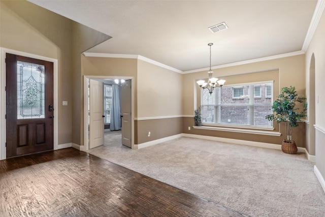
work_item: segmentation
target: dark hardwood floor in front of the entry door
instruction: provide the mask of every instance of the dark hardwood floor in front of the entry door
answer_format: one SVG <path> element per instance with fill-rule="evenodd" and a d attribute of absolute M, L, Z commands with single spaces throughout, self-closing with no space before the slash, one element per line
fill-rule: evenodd
<path fill-rule="evenodd" d="M 0 161 L 0 216 L 243 216 L 73 148 Z"/>

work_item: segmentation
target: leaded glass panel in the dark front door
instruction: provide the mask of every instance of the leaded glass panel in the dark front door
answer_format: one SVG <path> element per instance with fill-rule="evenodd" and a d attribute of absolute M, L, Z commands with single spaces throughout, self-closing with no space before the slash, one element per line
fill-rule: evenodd
<path fill-rule="evenodd" d="M 17 61 L 17 118 L 45 118 L 45 66 Z"/>

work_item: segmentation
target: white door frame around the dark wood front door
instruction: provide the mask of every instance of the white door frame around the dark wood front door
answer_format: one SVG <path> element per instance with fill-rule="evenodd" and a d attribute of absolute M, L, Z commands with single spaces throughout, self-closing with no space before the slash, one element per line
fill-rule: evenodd
<path fill-rule="evenodd" d="M 46 56 L 0 47 L 0 160 L 6 159 L 6 53 L 41 59 L 53 63 L 53 149 L 58 149 L 58 60 Z"/>

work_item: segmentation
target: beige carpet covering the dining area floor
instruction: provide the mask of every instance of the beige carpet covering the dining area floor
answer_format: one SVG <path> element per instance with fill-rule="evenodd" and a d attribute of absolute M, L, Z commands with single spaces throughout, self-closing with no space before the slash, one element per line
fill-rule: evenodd
<path fill-rule="evenodd" d="M 139 150 L 107 139 L 89 153 L 249 216 L 325 216 L 304 153 L 192 138 Z"/>

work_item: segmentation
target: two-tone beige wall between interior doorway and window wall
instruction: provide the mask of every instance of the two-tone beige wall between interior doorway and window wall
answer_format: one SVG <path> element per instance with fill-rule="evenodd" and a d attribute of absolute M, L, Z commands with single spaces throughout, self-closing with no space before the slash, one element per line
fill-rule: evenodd
<path fill-rule="evenodd" d="M 182 74 L 138 60 L 137 80 L 135 144 L 182 133 Z"/>

